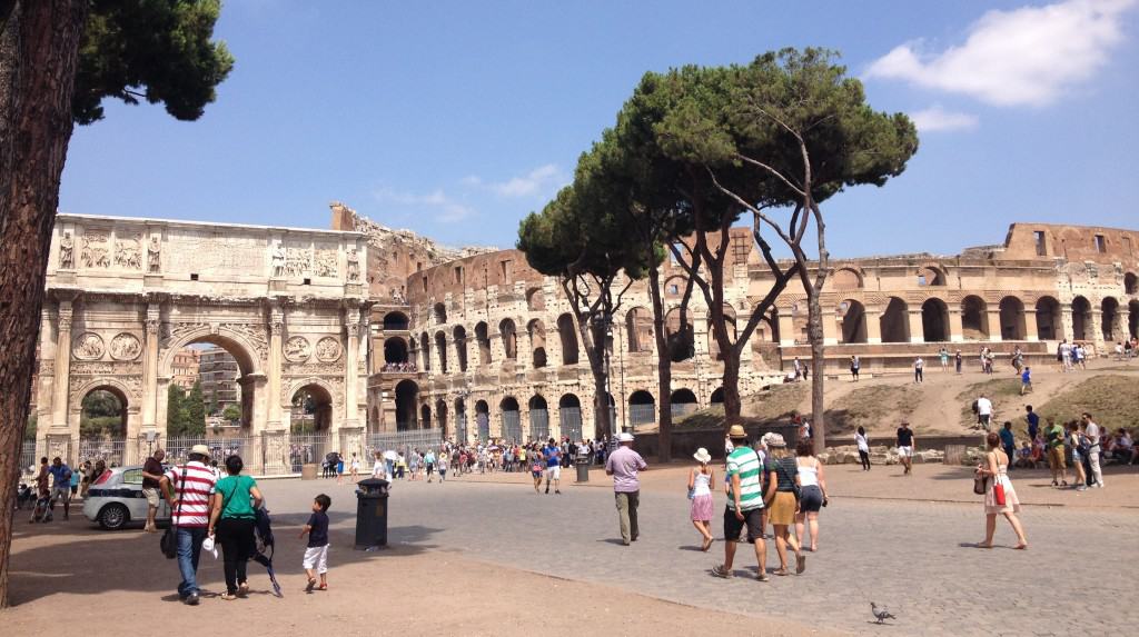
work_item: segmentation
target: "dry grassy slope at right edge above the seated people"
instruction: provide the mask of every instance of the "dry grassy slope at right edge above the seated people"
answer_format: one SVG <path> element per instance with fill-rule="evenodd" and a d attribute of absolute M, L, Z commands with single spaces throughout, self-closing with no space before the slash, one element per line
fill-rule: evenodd
<path fill-rule="evenodd" d="M 1139 380 L 1118 375 L 1092 377 L 1036 407 L 1041 419 L 1079 420 L 1088 412 L 1100 427 L 1116 430 L 1139 425 Z"/>

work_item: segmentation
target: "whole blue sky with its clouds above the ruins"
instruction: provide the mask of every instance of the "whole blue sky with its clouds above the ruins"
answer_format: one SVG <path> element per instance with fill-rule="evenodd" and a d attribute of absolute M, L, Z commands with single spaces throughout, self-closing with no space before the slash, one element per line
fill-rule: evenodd
<path fill-rule="evenodd" d="M 108 100 L 60 209 L 328 228 L 328 202 L 514 245 L 646 71 L 837 49 L 921 148 L 828 202 L 837 256 L 999 243 L 1015 221 L 1139 229 L 1139 0 L 230 0 L 237 61 L 194 123 Z"/>

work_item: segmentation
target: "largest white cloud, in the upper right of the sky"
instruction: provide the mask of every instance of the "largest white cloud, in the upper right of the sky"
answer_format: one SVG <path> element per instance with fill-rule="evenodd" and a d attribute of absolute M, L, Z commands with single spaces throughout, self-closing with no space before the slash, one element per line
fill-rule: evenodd
<path fill-rule="evenodd" d="M 867 77 L 902 80 L 995 106 L 1044 106 L 1091 77 L 1123 40 L 1122 15 L 1137 0 L 1067 0 L 993 10 L 964 44 L 940 53 L 902 44 L 875 60 Z"/>

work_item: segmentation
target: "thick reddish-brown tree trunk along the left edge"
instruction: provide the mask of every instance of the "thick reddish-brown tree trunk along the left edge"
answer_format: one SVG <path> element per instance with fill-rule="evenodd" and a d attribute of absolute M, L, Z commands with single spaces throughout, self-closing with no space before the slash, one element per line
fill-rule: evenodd
<path fill-rule="evenodd" d="M 87 0 L 25 0 L 0 34 L 0 333 L 6 339 L 0 350 L 0 606 L 8 605 L 10 503 L 88 6 Z"/>

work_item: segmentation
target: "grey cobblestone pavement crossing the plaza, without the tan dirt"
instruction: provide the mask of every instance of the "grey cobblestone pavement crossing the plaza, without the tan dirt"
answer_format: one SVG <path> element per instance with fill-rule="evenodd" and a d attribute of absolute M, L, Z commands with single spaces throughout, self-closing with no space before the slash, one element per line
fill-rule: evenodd
<path fill-rule="evenodd" d="M 335 527 L 351 529 L 351 487 L 264 483 L 277 506 L 289 511 L 303 511 L 320 489 L 334 497 Z M 1121 634 L 1139 621 L 1128 602 L 1139 557 L 1134 511 L 1030 507 L 1021 516 L 1030 551 L 1010 549 L 1015 536 L 1002 519 L 998 548 L 983 551 L 972 547 L 984 535 L 980 504 L 835 498 L 821 515 L 820 549 L 809 554 L 806 573 L 760 584 L 751 579 L 754 557 L 744 549 L 737 579 L 711 577 L 723 544 L 707 554 L 697 549 L 682 489 L 642 493 L 642 536 L 630 547 L 620 544 L 613 494 L 600 488 L 546 496 L 521 485 L 461 479 L 400 482 L 390 510 L 394 545 L 459 551 L 489 569 L 503 564 L 846 632 L 891 630 L 870 623 L 871 601 L 898 615 L 893 634 L 907 635 Z M 721 531 L 719 519 L 713 527 Z M 770 570 L 778 560 L 768 544 Z M 1089 606 L 1089 595 L 1101 603 Z"/>

